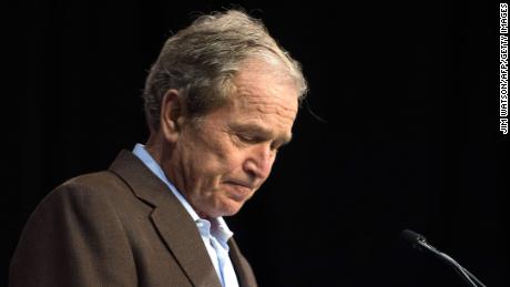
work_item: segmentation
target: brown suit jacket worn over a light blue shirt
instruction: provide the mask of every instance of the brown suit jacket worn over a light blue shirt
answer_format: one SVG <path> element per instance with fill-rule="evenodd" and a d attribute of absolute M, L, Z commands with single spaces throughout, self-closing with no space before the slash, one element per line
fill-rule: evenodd
<path fill-rule="evenodd" d="M 256 286 L 233 239 L 241 286 Z M 206 286 L 220 280 L 192 217 L 136 156 L 75 177 L 27 223 L 10 266 L 18 286 Z"/>

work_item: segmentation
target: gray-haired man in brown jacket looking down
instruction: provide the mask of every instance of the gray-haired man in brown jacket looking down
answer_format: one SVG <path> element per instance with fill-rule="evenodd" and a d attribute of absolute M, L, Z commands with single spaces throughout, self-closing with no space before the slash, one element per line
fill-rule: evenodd
<path fill-rule="evenodd" d="M 222 216 L 269 175 L 305 91 L 299 64 L 261 22 L 198 18 L 151 69 L 146 145 L 44 198 L 10 286 L 256 286 Z"/>

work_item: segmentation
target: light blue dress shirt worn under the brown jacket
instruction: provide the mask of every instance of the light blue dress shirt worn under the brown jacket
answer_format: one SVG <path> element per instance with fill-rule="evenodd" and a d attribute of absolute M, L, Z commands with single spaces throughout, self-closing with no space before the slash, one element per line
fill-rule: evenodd
<path fill-rule="evenodd" d="M 231 257 L 228 257 L 227 240 L 234 235 L 226 225 L 223 217 L 217 217 L 210 221 L 201 218 L 193 207 L 187 203 L 186 198 L 177 191 L 177 188 L 166 178 L 161 166 L 154 161 L 151 154 L 145 150 L 143 144 L 136 144 L 133 148 L 133 154 L 136 155 L 161 181 L 163 181 L 172 193 L 177 197 L 178 202 L 184 206 L 187 213 L 198 228 L 202 240 L 207 249 L 208 256 L 213 262 L 220 281 L 224 287 L 238 287 L 237 276 L 235 275 L 234 266 Z"/>

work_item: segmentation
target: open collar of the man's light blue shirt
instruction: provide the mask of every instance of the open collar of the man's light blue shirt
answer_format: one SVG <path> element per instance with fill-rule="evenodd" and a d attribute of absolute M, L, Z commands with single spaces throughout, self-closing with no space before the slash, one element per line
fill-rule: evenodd
<path fill-rule="evenodd" d="M 206 233 L 207 235 L 213 235 L 224 248 L 228 248 L 227 240 L 234 235 L 234 233 L 231 232 L 223 217 L 213 218 L 212 222 L 201 218 L 198 214 L 196 214 L 195 209 L 193 209 L 193 207 L 186 201 L 186 198 L 184 198 L 177 188 L 169 181 L 161 166 L 145 150 L 143 144 L 137 143 L 133 148 L 133 154 L 136 155 L 149 167 L 149 170 L 151 170 L 152 173 L 154 173 L 162 182 L 169 186 L 175 197 L 177 197 L 178 202 L 191 215 L 201 234 Z"/>

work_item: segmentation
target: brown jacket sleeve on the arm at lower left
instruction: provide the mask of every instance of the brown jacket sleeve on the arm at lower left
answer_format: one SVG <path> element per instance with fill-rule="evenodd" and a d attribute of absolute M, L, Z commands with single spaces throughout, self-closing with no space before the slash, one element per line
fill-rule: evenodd
<path fill-rule="evenodd" d="M 11 260 L 9 286 L 136 286 L 136 267 L 108 191 L 67 183 L 38 206 Z"/>

